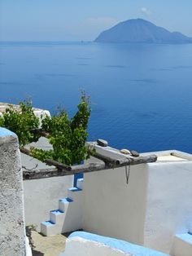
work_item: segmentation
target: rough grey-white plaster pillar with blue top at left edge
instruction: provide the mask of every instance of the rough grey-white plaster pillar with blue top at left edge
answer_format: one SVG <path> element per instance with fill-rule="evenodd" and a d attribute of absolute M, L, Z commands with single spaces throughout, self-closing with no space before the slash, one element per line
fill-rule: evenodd
<path fill-rule="evenodd" d="M 0 254 L 26 255 L 24 198 L 17 136 L 0 128 Z"/>

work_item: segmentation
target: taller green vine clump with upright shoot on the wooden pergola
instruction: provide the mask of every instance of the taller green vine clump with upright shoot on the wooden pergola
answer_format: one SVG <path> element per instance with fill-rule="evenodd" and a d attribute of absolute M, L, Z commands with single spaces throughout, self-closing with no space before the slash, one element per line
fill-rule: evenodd
<path fill-rule="evenodd" d="M 33 148 L 34 157 L 41 161 L 47 158 L 53 159 L 68 166 L 79 164 L 89 157 L 90 150 L 85 147 L 85 141 L 88 136 L 87 126 L 91 108 L 89 97 L 86 97 L 85 93 L 82 93 L 81 103 L 77 105 L 77 108 L 72 119 L 63 110 L 51 118 L 46 116 L 43 119 L 41 128 L 49 134 L 48 139 L 53 150 L 44 151 Z"/>

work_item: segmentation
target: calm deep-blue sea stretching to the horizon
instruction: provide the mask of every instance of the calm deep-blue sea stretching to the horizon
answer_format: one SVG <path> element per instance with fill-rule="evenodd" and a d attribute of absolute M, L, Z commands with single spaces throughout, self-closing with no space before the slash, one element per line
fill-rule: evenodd
<path fill-rule="evenodd" d="M 192 44 L 1 43 L 0 101 L 75 112 L 91 96 L 89 139 L 192 152 Z"/>

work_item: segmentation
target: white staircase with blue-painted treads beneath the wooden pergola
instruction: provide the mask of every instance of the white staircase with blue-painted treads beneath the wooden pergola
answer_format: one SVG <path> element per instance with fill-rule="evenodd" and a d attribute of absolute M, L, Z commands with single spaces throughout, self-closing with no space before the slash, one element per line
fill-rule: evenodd
<path fill-rule="evenodd" d="M 82 228 L 83 179 L 76 187 L 68 188 L 68 197 L 59 199 L 59 209 L 50 211 L 50 220 L 41 223 L 41 233 L 53 236 Z"/>

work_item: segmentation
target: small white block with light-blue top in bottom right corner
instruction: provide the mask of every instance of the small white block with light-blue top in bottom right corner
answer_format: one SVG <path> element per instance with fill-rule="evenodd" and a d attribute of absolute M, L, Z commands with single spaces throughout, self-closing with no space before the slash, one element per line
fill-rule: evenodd
<path fill-rule="evenodd" d="M 179 234 L 174 237 L 172 255 L 192 256 L 192 233 Z"/>

